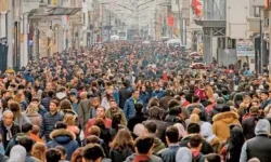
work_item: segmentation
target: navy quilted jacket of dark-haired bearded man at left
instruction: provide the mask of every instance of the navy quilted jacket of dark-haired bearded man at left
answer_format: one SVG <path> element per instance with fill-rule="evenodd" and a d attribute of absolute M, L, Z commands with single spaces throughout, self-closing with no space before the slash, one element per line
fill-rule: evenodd
<path fill-rule="evenodd" d="M 63 118 L 64 116 L 61 112 L 56 112 L 53 116 L 51 114 L 51 112 L 47 112 L 43 116 L 39 137 L 42 138 L 42 136 L 46 135 L 47 141 L 51 140 L 50 134 L 54 130 L 54 124 L 57 121 L 63 121 Z"/>

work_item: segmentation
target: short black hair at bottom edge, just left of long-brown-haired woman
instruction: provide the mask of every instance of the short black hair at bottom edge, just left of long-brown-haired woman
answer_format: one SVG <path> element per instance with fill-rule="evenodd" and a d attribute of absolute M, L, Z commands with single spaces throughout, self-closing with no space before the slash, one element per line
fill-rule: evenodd
<path fill-rule="evenodd" d="M 89 144 L 86 146 L 82 152 L 82 157 L 86 160 L 95 161 L 99 158 L 104 158 L 103 148 L 98 144 Z"/>

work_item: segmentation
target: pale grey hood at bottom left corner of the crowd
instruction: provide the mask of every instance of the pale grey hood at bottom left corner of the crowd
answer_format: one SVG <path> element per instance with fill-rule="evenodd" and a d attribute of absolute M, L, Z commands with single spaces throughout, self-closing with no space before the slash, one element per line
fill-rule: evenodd
<path fill-rule="evenodd" d="M 26 150 L 23 146 L 16 145 L 12 147 L 10 152 L 10 159 L 9 162 L 14 161 L 25 161 L 26 160 Z"/>

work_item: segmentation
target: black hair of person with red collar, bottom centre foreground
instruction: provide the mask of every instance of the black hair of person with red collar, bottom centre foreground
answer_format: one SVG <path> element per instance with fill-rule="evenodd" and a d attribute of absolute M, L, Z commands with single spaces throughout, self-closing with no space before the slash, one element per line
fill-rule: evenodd
<path fill-rule="evenodd" d="M 141 136 L 136 139 L 134 147 L 138 148 L 138 152 L 141 154 L 146 154 L 154 144 L 154 138 L 152 136 Z"/>

